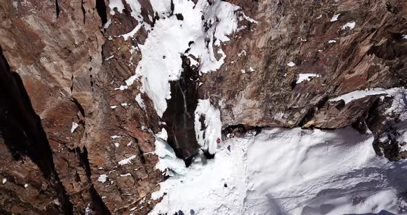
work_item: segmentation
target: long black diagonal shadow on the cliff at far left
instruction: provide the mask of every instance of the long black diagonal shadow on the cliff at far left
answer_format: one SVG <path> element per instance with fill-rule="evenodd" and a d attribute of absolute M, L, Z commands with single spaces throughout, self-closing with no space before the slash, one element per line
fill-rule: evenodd
<path fill-rule="evenodd" d="M 52 150 L 41 119 L 34 112 L 30 98 L 19 74 L 10 71 L 0 47 L 0 137 L 4 139 L 13 158 L 29 156 L 44 178 L 59 194 L 65 214 L 73 214 L 72 204 L 55 171 Z"/>

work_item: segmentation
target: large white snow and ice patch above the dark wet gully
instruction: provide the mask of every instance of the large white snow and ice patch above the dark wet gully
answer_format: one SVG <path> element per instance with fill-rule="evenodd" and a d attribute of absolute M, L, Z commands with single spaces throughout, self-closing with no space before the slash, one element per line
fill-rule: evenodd
<path fill-rule="evenodd" d="M 229 41 L 227 35 L 237 30 L 237 13 L 240 8 L 225 1 L 216 0 L 210 6 L 208 1 L 199 0 L 195 6 L 192 1 L 173 1 L 174 14 L 182 14 L 183 21 L 171 13 L 171 1 L 151 1 L 152 9 L 157 12 L 159 19 L 155 22 L 143 45 L 139 44 L 142 59 L 137 65 L 135 75 L 126 80 L 126 85 L 132 85 L 139 79 L 142 83 L 141 92 L 146 92 L 154 103 L 159 116 L 167 108 L 166 99 L 170 99 L 170 83 L 179 79 L 181 75 L 181 54 L 199 58 L 200 72 L 215 71 L 224 63 L 226 54 L 219 48 L 214 50 L 213 45 Z M 132 6 L 135 14 L 139 16 L 139 4 Z M 202 20 L 201 17 L 204 19 Z M 204 23 L 212 25 L 205 30 Z M 122 35 L 127 39 L 141 28 L 137 25 L 129 34 Z M 191 45 L 188 45 L 193 41 Z M 189 52 L 186 50 L 190 48 Z M 221 55 L 215 58 L 215 52 Z M 164 59 L 162 56 L 166 56 Z"/>

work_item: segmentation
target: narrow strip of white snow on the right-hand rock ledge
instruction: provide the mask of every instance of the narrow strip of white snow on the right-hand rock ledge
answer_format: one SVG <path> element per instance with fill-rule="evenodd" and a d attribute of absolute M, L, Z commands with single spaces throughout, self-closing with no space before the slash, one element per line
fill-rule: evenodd
<path fill-rule="evenodd" d="M 365 89 L 365 90 L 356 90 L 353 92 L 348 92 L 341 96 L 337 96 L 333 99 L 329 99 L 329 101 L 339 101 L 344 100 L 345 104 L 350 103 L 353 100 L 362 99 L 366 96 L 373 96 L 379 94 L 395 94 L 398 88 L 391 88 L 391 89 L 384 89 L 384 88 L 372 88 L 372 89 Z"/>

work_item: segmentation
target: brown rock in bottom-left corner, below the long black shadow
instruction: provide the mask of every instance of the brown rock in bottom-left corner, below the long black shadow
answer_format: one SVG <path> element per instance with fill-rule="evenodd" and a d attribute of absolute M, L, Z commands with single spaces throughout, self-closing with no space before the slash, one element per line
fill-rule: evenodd
<path fill-rule="evenodd" d="M 30 158 L 16 161 L 0 141 L 0 213 L 58 214 L 57 192 Z"/>

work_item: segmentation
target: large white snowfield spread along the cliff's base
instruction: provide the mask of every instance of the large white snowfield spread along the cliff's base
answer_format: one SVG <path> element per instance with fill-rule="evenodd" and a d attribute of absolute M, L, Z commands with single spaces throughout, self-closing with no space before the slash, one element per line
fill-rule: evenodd
<path fill-rule="evenodd" d="M 214 159 L 200 155 L 188 168 L 177 166 L 176 174 L 152 194 L 163 200 L 150 214 L 188 214 L 190 209 L 230 215 L 364 214 L 382 209 L 398 214 L 398 191 L 407 189 L 407 161 L 392 163 L 376 156 L 373 139 L 350 127 L 276 128 L 228 139 Z"/>

